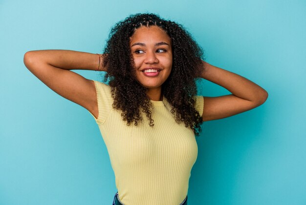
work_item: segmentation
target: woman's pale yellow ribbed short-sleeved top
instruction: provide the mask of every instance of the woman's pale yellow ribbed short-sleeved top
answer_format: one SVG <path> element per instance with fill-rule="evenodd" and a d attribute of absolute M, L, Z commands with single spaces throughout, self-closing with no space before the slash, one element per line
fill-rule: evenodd
<path fill-rule="evenodd" d="M 192 129 L 176 123 L 171 105 L 153 103 L 154 126 L 143 122 L 127 125 L 121 111 L 112 108 L 110 86 L 94 81 L 99 115 L 96 119 L 109 152 L 118 197 L 124 205 L 179 205 L 187 196 L 197 142 Z M 195 96 L 202 115 L 203 97 Z"/>

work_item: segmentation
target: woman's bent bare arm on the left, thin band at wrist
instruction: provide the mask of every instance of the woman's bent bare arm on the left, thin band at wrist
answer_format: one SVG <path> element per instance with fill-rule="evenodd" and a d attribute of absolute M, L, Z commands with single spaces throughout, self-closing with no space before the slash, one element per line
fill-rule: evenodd
<path fill-rule="evenodd" d="M 100 61 L 100 65 L 99 65 Z M 75 102 L 98 118 L 94 82 L 70 70 L 105 71 L 103 55 L 72 50 L 37 50 L 24 54 L 25 66 L 57 94 Z"/>

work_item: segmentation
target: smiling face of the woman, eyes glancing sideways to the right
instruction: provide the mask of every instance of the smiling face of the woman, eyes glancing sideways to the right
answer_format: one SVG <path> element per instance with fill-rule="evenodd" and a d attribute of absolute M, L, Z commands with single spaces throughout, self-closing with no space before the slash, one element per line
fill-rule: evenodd
<path fill-rule="evenodd" d="M 130 38 L 137 80 L 146 88 L 160 89 L 172 69 L 171 40 L 158 26 L 142 26 Z"/>

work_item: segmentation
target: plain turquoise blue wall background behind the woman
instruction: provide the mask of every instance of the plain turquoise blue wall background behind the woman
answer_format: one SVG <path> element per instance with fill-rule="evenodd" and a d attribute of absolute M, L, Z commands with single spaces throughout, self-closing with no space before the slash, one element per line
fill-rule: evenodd
<path fill-rule="evenodd" d="M 0 0 L 0 205 L 112 203 L 114 174 L 93 117 L 31 74 L 23 55 L 101 53 L 111 26 L 138 12 L 183 24 L 207 62 L 269 93 L 260 107 L 203 123 L 188 204 L 305 205 L 305 0 Z"/>

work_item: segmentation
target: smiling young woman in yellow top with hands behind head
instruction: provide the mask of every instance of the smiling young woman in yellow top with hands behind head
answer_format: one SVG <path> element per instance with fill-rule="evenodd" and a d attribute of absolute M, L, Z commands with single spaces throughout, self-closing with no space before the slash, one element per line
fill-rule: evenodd
<path fill-rule="evenodd" d="M 116 205 L 187 205 L 200 123 L 261 105 L 267 92 L 202 60 L 183 26 L 154 14 L 131 15 L 111 30 L 104 54 L 38 50 L 26 67 L 98 124 L 115 173 Z M 109 85 L 70 70 L 106 71 Z M 196 96 L 196 78 L 232 94 Z"/>

